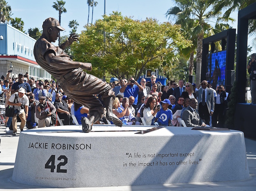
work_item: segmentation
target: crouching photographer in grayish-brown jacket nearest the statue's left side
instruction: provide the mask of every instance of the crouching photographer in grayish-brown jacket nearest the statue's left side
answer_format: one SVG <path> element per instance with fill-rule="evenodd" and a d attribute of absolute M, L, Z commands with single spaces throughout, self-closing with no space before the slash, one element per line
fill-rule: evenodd
<path fill-rule="evenodd" d="M 38 128 L 49 127 L 52 123 L 51 116 L 56 112 L 55 106 L 50 101 L 46 101 L 45 96 L 39 98 L 40 104 L 35 108 L 38 120 Z"/>

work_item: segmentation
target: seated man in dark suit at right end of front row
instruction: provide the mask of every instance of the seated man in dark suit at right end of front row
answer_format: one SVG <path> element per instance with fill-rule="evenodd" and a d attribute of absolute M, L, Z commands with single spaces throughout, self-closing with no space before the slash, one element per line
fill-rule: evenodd
<path fill-rule="evenodd" d="M 196 98 L 190 99 L 189 106 L 184 110 L 182 119 L 187 127 L 206 126 L 204 121 L 199 117 L 198 110 L 196 109 L 198 101 Z"/>

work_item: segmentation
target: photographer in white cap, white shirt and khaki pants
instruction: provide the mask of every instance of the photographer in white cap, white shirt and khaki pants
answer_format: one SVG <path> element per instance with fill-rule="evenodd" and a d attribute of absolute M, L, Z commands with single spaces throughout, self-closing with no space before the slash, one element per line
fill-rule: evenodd
<path fill-rule="evenodd" d="M 14 116 L 12 117 L 12 135 L 16 135 L 17 133 L 17 116 L 20 117 L 20 131 L 23 131 L 23 128 L 26 123 L 26 119 L 28 118 L 28 97 L 25 95 L 25 89 L 20 88 L 17 93 L 14 93 L 10 99 L 8 100 L 8 105 L 14 106 Z"/>

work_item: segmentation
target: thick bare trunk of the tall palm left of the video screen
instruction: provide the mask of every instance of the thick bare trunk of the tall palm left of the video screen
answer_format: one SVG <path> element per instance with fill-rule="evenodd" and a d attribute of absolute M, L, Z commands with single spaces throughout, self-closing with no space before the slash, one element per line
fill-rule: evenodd
<path fill-rule="evenodd" d="M 201 68 L 202 68 L 202 46 L 204 35 L 199 35 L 197 38 L 196 48 L 196 86 L 201 83 Z"/>

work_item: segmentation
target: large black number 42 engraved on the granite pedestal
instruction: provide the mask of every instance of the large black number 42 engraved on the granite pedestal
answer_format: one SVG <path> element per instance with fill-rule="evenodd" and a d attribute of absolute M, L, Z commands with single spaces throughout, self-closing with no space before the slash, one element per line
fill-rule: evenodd
<path fill-rule="evenodd" d="M 60 169 L 60 167 L 66 165 L 66 163 L 68 163 L 68 158 L 64 155 L 61 155 L 58 157 L 58 160 L 62 160 L 62 159 L 64 159 L 64 161 L 58 163 L 57 172 L 67 173 L 67 169 Z M 51 169 L 51 172 L 54 172 L 55 167 L 56 167 L 55 166 L 55 155 L 52 155 L 52 156 L 50 156 L 48 161 L 45 163 L 44 168 L 49 168 L 49 169 Z"/>

